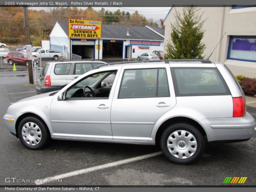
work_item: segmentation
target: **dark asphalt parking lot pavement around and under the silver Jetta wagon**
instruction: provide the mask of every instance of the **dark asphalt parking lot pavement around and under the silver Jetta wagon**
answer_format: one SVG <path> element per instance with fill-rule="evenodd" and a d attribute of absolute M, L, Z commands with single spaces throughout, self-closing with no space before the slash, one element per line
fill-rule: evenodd
<path fill-rule="evenodd" d="M 248 177 L 243 185 L 256 185 L 255 134 L 249 141 L 207 146 L 192 165 L 173 164 L 158 154 L 116 163 L 154 154 L 160 151 L 157 146 L 53 140 L 45 149 L 28 150 L 7 131 L 2 117 L 11 103 L 36 95 L 35 86 L 0 84 L 0 90 L 0 185 L 35 185 L 5 182 L 6 177 L 36 180 L 52 176 L 60 176 L 62 182 L 43 185 L 224 185 L 225 177 Z M 247 111 L 256 117 L 256 108 L 247 106 Z M 91 171 L 72 176 L 81 169 Z M 61 177 L 65 173 L 68 177 Z"/>

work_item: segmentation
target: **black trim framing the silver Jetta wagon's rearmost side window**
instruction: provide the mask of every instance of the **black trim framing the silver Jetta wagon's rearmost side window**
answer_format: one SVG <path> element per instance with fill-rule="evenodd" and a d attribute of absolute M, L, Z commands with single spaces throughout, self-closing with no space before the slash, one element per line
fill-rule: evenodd
<path fill-rule="evenodd" d="M 174 72 L 174 69 L 213 69 L 213 70 L 216 71 L 217 75 L 220 77 L 220 80 L 221 80 L 222 84 L 224 85 L 224 88 L 226 89 L 226 93 L 180 94 L 179 89 L 178 89 L 178 84 L 177 84 L 177 78 L 176 78 L 176 74 Z M 224 80 L 224 78 L 221 75 L 218 68 L 214 68 L 214 67 L 171 67 L 171 74 L 172 74 L 172 82 L 173 82 L 173 87 L 174 87 L 174 92 L 175 92 L 176 97 L 231 95 L 231 92 L 228 88 L 228 85 L 226 84 L 226 81 Z"/>

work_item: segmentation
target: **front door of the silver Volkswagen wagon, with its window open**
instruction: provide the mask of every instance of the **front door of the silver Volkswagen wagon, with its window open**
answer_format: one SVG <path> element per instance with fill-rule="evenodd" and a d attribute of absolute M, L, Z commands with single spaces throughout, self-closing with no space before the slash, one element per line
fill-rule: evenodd
<path fill-rule="evenodd" d="M 98 69 L 97 73 L 90 71 L 87 76 L 75 80 L 74 84 L 54 96 L 51 104 L 53 137 L 113 139 L 110 111 L 120 71 L 116 68 Z M 116 73 L 116 79 L 112 87 L 101 87 L 102 81 L 113 73 Z M 94 97 L 89 88 L 85 89 L 87 97 L 84 97 L 85 86 L 95 92 Z M 66 94 L 65 100 L 58 99 L 62 92 Z"/>

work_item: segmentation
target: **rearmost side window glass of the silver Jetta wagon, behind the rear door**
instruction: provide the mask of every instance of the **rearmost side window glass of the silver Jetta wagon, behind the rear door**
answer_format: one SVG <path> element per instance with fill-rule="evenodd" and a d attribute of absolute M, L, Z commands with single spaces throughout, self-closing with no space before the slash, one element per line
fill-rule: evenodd
<path fill-rule="evenodd" d="M 216 68 L 171 68 L 176 96 L 229 95 Z"/>

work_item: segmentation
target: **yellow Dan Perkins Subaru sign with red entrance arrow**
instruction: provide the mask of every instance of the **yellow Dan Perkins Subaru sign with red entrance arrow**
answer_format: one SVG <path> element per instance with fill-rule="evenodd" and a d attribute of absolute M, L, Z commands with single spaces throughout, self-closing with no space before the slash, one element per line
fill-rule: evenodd
<path fill-rule="evenodd" d="M 68 19 L 68 37 L 100 38 L 101 21 Z"/>

